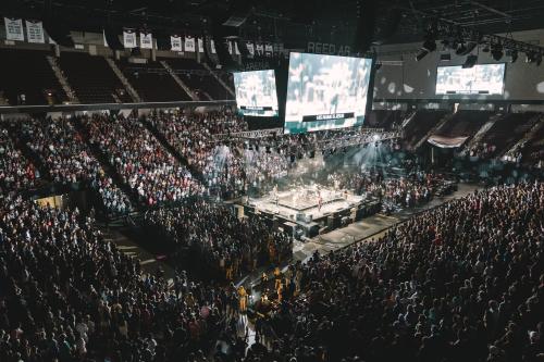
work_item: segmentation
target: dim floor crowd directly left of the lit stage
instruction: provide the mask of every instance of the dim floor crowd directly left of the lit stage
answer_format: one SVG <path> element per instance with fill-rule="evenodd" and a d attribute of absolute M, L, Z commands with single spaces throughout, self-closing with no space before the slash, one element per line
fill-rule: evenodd
<path fill-rule="evenodd" d="M 208 277 L 234 280 L 257 266 L 281 264 L 292 254 L 293 240 L 258 216 L 238 219 L 227 205 L 191 201 L 148 211 L 145 223 L 162 233 L 183 260 L 198 260 Z"/>

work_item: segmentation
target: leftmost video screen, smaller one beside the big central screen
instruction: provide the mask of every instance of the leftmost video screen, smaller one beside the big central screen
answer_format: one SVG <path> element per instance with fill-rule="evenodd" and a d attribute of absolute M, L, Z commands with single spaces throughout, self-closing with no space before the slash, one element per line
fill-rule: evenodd
<path fill-rule="evenodd" d="M 234 73 L 236 104 L 244 115 L 277 116 L 273 70 Z"/>

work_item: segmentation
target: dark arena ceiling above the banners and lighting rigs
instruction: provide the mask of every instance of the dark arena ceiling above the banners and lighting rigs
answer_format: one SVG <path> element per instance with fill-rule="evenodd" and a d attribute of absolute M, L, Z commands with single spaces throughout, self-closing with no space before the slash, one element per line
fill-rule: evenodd
<path fill-rule="evenodd" d="M 313 38 L 337 42 L 353 34 L 358 15 L 375 13 L 379 29 L 398 16 L 396 32 L 385 42 L 418 41 L 423 23 L 433 17 L 485 34 L 544 27 L 542 0 L 3 0 L 8 16 L 52 14 L 72 28 L 100 29 L 106 20 L 119 26 L 151 29 L 198 29 L 225 14 L 245 16 L 247 37 L 263 40 Z"/>

